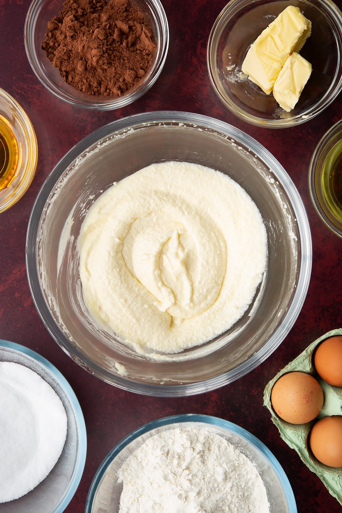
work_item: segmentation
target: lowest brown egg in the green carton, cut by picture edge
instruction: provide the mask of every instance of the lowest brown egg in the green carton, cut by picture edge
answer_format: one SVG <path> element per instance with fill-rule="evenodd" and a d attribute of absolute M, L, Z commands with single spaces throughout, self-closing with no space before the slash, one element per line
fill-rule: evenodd
<path fill-rule="evenodd" d="M 318 461 L 342 467 L 342 417 L 324 417 L 313 426 L 309 443 Z"/>

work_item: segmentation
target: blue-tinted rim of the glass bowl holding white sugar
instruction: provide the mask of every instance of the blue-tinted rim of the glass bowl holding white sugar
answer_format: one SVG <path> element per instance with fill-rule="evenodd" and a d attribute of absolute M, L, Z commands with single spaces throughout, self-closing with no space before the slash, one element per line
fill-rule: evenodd
<path fill-rule="evenodd" d="M 62 498 L 62 500 L 55 507 L 54 512 L 53 512 L 53 513 L 63 513 L 63 511 L 66 509 L 66 507 L 70 503 L 71 499 L 75 495 L 75 492 L 78 488 L 79 482 L 81 481 L 85 463 L 86 463 L 87 431 L 86 431 L 86 424 L 85 424 L 85 420 L 83 417 L 83 412 L 82 412 L 81 406 L 78 402 L 75 392 L 73 391 L 73 389 L 71 388 L 70 384 L 65 379 L 63 374 L 54 365 L 52 365 L 52 363 L 50 363 L 48 360 L 46 360 L 46 358 L 41 356 L 41 354 L 38 354 L 37 352 L 33 351 L 32 349 L 29 349 L 28 347 L 23 346 L 21 344 L 16 344 L 15 342 L 10 342 L 8 340 L 3 340 L 3 339 L 0 339 L 0 347 L 6 347 L 6 348 L 12 349 L 16 352 L 26 354 L 26 356 L 32 358 L 33 360 L 38 362 L 42 367 L 44 367 L 47 371 L 49 371 L 51 374 L 53 374 L 53 376 L 57 379 L 58 383 L 62 386 L 63 390 L 67 393 L 67 396 L 72 405 L 72 408 L 73 408 L 73 411 L 75 414 L 76 425 L 77 425 L 79 446 L 78 446 L 75 470 L 74 470 L 73 476 L 69 482 L 68 489 L 65 492 L 65 495 Z"/>

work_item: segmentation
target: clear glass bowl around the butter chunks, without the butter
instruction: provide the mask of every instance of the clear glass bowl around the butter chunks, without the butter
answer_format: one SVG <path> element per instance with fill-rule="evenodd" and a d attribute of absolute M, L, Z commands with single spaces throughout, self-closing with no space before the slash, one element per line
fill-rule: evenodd
<path fill-rule="evenodd" d="M 342 88 L 342 13 L 330 0 L 294 0 L 291 5 L 312 23 L 300 55 L 312 74 L 291 112 L 285 112 L 256 84 L 240 75 L 249 46 L 289 5 L 270 0 L 231 0 L 211 30 L 207 64 L 212 86 L 224 105 L 240 119 L 265 128 L 305 123 L 322 112 Z"/>

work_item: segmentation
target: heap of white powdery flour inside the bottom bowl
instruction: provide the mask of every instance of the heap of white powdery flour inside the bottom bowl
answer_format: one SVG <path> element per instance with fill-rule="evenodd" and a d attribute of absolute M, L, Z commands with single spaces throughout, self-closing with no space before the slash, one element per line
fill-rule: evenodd
<path fill-rule="evenodd" d="M 123 464 L 119 513 L 269 513 L 254 465 L 218 434 L 176 428 L 149 438 Z"/>

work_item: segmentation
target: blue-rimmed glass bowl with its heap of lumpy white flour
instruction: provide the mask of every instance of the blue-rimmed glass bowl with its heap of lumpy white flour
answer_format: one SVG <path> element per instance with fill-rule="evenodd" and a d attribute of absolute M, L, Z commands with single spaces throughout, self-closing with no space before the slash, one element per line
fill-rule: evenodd
<path fill-rule="evenodd" d="M 206 415 L 150 422 L 119 442 L 91 484 L 86 513 L 296 513 L 278 461 L 239 426 Z"/>

